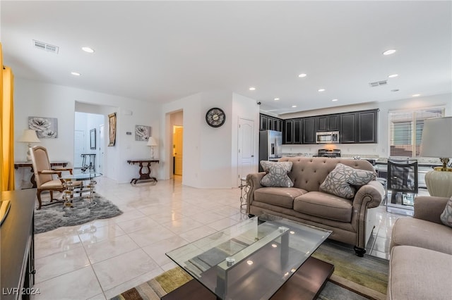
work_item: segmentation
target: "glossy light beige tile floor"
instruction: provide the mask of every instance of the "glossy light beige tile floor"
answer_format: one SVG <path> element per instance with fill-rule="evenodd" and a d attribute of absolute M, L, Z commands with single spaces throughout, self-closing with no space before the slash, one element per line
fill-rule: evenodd
<path fill-rule="evenodd" d="M 176 266 L 165 253 L 247 218 L 240 189 L 196 189 L 181 177 L 117 184 L 102 177 L 97 193 L 124 213 L 35 235 L 35 300 L 110 299 Z M 403 215 L 379 206 L 367 253 L 388 258 L 391 228 Z"/>

